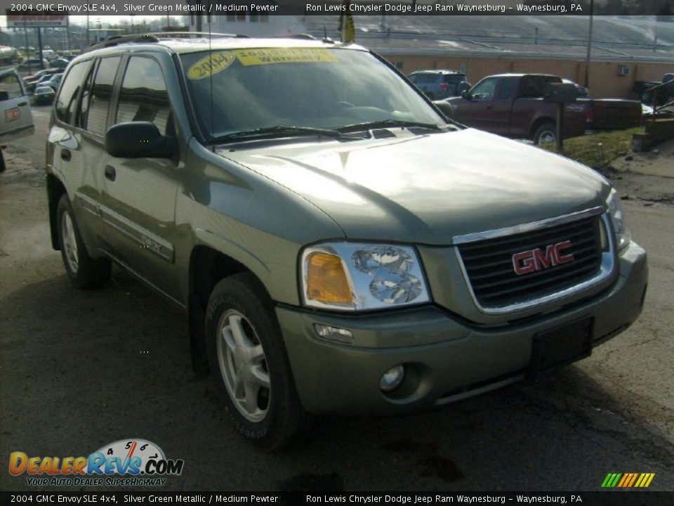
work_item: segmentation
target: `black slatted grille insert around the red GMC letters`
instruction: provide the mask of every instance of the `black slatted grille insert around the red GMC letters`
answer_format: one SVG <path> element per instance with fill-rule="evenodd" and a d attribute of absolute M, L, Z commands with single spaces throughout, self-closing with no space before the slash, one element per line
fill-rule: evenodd
<path fill-rule="evenodd" d="M 513 255 L 529 250 L 546 252 L 549 245 L 571 245 L 564 254 L 574 260 L 518 275 Z M 467 242 L 458 246 L 475 299 L 485 308 L 498 308 L 539 299 L 594 278 L 602 267 L 600 216 L 557 224 L 524 233 Z"/>

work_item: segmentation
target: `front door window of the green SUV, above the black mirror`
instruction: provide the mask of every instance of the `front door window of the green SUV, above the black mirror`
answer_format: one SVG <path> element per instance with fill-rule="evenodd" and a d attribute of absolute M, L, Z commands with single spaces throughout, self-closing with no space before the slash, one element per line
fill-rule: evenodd
<path fill-rule="evenodd" d="M 147 121 L 162 135 L 172 134 L 171 105 L 161 65 L 152 58 L 133 56 L 119 91 L 115 123 Z"/>

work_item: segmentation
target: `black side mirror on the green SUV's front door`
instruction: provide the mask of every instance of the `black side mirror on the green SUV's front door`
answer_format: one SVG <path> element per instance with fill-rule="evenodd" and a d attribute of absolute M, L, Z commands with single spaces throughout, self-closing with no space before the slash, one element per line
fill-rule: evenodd
<path fill-rule="evenodd" d="M 119 158 L 173 158 L 176 141 L 162 136 L 152 122 L 126 122 L 105 132 L 105 150 Z"/>

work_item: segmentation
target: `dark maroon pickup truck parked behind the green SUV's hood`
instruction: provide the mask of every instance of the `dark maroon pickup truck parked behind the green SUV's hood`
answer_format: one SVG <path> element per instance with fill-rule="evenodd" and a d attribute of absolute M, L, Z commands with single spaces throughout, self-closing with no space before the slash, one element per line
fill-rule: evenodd
<path fill-rule="evenodd" d="M 461 97 L 435 105 L 459 123 L 493 134 L 536 144 L 555 141 L 557 105 L 543 97 L 550 83 L 561 82 L 546 74 L 498 74 L 484 77 Z M 641 105 L 635 100 L 579 98 L 564 106 L 565 138 L 582 136 L 586 129 L 629 128 L 640 122 Z"/>

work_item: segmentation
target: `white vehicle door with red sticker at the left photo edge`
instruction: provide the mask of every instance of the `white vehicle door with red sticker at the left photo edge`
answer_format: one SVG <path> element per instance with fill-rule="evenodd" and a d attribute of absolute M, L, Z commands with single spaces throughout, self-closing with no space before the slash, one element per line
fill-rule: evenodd
<path fill-rule="evenodd" d="M 34 134 L 28 96 L 14 69 L 0 72 L 0 115 L 0 141 Z"/>

